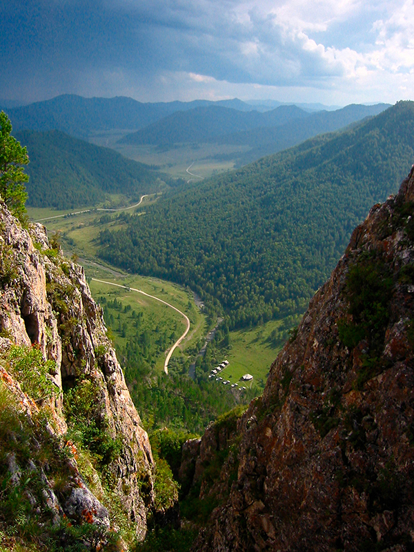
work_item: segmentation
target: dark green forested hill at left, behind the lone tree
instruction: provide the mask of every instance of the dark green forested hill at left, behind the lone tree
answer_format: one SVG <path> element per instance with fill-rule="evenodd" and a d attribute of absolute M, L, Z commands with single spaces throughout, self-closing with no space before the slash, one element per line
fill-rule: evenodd
<path fill-rule="evenodd" d="M 107 193 L 139 199 L 159 190 L 161 181 L 141 163 L 59 130 L 16 133 L 30 152 L 28 206 L 57 209 L 95 205 Z"/>

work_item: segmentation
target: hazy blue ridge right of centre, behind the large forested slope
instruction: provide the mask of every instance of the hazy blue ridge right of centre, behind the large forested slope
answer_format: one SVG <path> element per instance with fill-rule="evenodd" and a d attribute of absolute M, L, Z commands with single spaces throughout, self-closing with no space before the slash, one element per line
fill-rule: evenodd
<path fill-rule="evenodd" d="M 349 124 L 372 117 L 390 107 L 351 104 L 336 111 L 306 112 L 297 106 L 279 106 L 260 113 L 237 112 L 216 106 L 175 112 L 137 132 L 126 135 L 119 144 L 166 145 L 185 142 L 213 142 L 234 146 L 250 146 L 240 154 L 245 165 L 300 144 L 308 138 L 333 132 Z M 236 155 L 237 157 L 237 155 Z"/>

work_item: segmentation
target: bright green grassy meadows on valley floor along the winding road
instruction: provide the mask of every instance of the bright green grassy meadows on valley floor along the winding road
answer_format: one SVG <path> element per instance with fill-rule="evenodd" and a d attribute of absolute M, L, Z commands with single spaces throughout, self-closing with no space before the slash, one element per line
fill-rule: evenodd
<path fill-rule="evenodd" d="M 194 170 L 194 172 L 198 174 L 197 170 Z M 145 206 L 156 199 L 157 197 L 145 198 L 143 204 L 138 208 L 140 212 L 145 213 Z M 78 210 L 86 210 L 86 208 Z M 128 212 L 131 213 L 136 210 L 133 209 Z M 190 353 L 194 355 L 197 346 L 204 342 L 204 337 L 210 328 L 206 325 L 206 317 L 195 305 L 190 290 L 155 278 L 128 275 L 118 268 L 102 263 L 100 259 L 97 259 L 97 242 L 95 242 L 95 239 L 103 228 L 121 228 L 121 222 L 108 217 L 109 220 L 101 224 L 99 221 L 105 213 L 96 210 L 90 210 L 88 213 L 80 213 L 79 215 L 48 218 L 57 215 L 68 215 L 68 213 L 73 213 L 73 210 L 55 211 L 28 208 L 31 219 L 46 219 L 42 221 L 42 224 L 46 225 L 49 235 L 61 234 L 62 246 L 66 254 L 75 254 L 78 257 L 88 277 L 105 279 L 116 284 L 141 289 L 150 295 L 164 299 L 186 313 L 190 318 L 190 331 L 184 342 L 175 351 L 172 360 L 181 358 L 181 361 L 183 361 L 188 358 Z M 148 362 L 152 363 L 151 365 L 156 371 L 162 370 L 166 349 L 181 335 L 181 328 L 184 331 L 185 326 L 182 317 L 157 301 L 144 299 L 142 295 L 132 291 L 128 292 L 93 281 L 90 282 L 90 288 L 92 295 L 98 302 L 102 302 L 101 297 L 104 297 L 103 301 L 108 304 L 116 297 L 122 303 L 123 308 L 130 305 L 130 310 L 127 313 L 124 313 L 124 311 L 115 312 L 114 310 L 108 312 L 114 317 L 114 321 L 110 326 L 115 345 L 119 351 L 126 347 L 128 339 L 135 339 L 137 336 L 135 326 L 133 326 L 136 320 L 132 319 L 132 311 L 143 313 L 139 335 L 146 331 L 150 339 L 154 339 L 155 342 L 159 343 L 159 345 L 148 349 L 148 358 L 150 358 Z M 105 308 L 105 305 L 103 307 Z M 134 328 L 133 331 L 128 330 L 128 326 L 131 324 Z M 230 364 L 221 374 L 222 377 L 226 377 L 234 383 L 238 382 L 239 378 L 245 373 L 250 373 L 254 377 L 253 385 L 263 388 L 270 364 L 276 358 L 279 350 L 270 339 L 270 334 L 279 324 L 281 322 L 273 321 L 257 328 L 231 332 L 230 346 L 228 355 L 226 355 Z M 162 331 L 160 328 L 162 328 Z M 162 339 L 160 333 L 163 336 Z"/>

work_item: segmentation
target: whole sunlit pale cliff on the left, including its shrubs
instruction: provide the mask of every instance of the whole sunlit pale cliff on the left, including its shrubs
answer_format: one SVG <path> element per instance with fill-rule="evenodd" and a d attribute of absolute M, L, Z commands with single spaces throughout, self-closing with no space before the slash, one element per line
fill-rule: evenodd
<path fill-rule="evenodd" d="M 126 519 L 144 538 L 150 444 L 83 269 L 2 204 L 0 228 L 2 492 L 19 490 L 39 524 L 112 531 Z"/>

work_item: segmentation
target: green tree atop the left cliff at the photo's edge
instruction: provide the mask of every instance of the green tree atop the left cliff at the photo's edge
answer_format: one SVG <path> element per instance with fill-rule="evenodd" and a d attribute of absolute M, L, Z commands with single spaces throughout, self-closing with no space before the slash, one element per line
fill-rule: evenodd
<path fill-rule="evenodd" d="M 28 197 L 24 183 L 29 177 L 23 165 L 29 162 L 26 148 L 10 135 L 12 124 L 4 111 L 0 112 L 0 197 L 8 209 L 20 220 L 23 219 Z"/>

